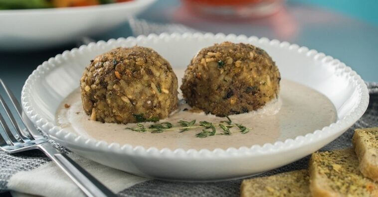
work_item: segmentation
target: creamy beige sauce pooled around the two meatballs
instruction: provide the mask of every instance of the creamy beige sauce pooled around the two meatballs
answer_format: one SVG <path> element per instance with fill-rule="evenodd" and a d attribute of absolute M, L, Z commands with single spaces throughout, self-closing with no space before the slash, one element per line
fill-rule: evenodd
<path fill-rule="evenodd" d="M 180 77 L 182 77 L 181 75 L 184 71 L 176 71 L 176 73 L 179 73 L 178 78 L 181 79 Z M 79 89 L 72 92 L 62 101 L 57 109 L 55 121 L 58 126 L 67 131 L 108 143 L 116 142 L 121 146 L 130 144 L 145 148 L 182 148 L 185 150 L 199 150 L 202 148 L 209 150 L 215 148 L 227 149 L 229 147 L 251 147 L 255 144 L 274 143 L 277 140 L 284 141 L 288 138 L 295 138 L 298 135 L 306 135 L 336 121 L 337 112 L 335 106 L 321 93 L 288 80 L 282 80 L 280 87 L 278 100 L 266 104 L 257 111 L 229 116 L 234 123 L 243 124 L 251 128 L 246 134 L 233 132 L 229 136 L 215 135 L 197 138 L 195 134 L 199 133 L 201 129 L 182 133 L 179 131 L 140 133 L 124 129 L 125 127 L 135 127 L 136 124 L 125 125 L 91 121 L 83 110 Z M 64 106 L 66 103 L 70 104 L 70 107 L 66 108 Z M 172 113 L 165 120 L 161 120 L 161 122 L 169 121 L 177 124 L 179 120 L 190 121 L 196 119 L 197 122 L 206 120 L 219 123 L 222 120 L 226 120 L 211 114 L 206 115 L 203 112 L 183 111 L 184 108 L 190 107 L 181 102 L 179 110 Z M 145 124 L 148 126 L 151 123 Z M 231 128 L 230 130 L 236 131 L 237 128 Z M 221 130 L 217 129 L 217 132 L 221 132 Z"/>

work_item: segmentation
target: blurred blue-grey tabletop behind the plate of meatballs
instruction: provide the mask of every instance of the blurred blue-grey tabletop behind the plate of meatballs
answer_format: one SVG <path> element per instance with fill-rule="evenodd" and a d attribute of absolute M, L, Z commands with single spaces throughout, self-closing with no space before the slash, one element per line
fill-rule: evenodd
<path fill-rule="evenodd" d="M 298 3 L 287 3 L 278 13 L 260 19 L 214 20 L 190 13 L 178 0 L 158 0 L 138 16 L 153 22 L 182 23 L 194 29 L 286 40 L 340 59 L 366 81 L 378 81 L 378 26 Z M 131 36 L 128 23 L 95 37 L 96 40 Z M 31 72 L 43 61 L 76 47 L 76 43 L 42 51 L 0 51 L 0 78 L 17 98 Z"/>

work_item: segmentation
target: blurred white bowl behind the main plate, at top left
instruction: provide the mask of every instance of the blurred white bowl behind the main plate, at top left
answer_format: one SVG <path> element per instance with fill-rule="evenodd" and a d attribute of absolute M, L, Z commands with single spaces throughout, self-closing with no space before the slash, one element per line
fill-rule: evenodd
<path fill-rule="evenodd" d="M 0 10 L 0 50 L 46 48 L 103 33 L 142 12 L 154 1 Z"/>

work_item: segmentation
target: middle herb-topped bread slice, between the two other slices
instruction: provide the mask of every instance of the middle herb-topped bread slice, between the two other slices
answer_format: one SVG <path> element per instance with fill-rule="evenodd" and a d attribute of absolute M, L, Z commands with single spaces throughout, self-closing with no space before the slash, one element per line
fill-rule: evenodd
<path fill-rule="evenodd" d="M 377 184 L 361 174 L 353 148 L 313 153 L 309 174 L 313 197 L 378 197 Z"/>

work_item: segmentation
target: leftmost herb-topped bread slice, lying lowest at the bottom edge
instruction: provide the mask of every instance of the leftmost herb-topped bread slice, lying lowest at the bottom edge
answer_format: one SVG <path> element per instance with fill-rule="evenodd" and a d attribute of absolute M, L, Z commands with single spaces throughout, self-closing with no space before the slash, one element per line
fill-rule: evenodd
<path fill-rule="evenodd" d="M 241 197 L 311 197 L 307 170 L 244 180 Z"/>

